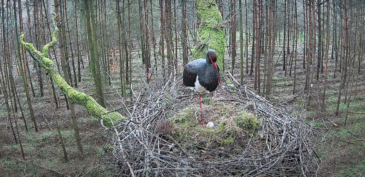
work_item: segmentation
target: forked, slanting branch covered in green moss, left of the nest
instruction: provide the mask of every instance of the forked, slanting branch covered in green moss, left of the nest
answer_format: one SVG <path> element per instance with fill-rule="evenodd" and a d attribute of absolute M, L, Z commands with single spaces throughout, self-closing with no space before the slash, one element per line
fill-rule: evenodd
<path fill-rule="evenodd" d="M 54 25 L 55 26 L 55 25 Z M 55 27 L 55 30 L 52 34 L 52 41 L 47 43 L 43 47 L 43 53 L 35 49 L 33 44 L 24 42 L 24 32 L 20 36 L 20 42 L 24 46 L 24 48 L 31 54 L 31 56 L 37 61 L 43 69 L 45 69 L 50 76 L 53 78 L 54 82 L 57 84 L 58 88 L 64 92 L 71 101 L 76 104 L 84 106 L 93 116 L 100 117 L 104 121 L 104 125 L 110 127 L 112 125 L 118 124 L 118 120 L 124 119 L 124 117 L 118 112 L 111 112 L 106 114 L 107 109 L 99 105 L 93 97 L 83 93 L 78 92 L 76 89 L 72 88 L 64 78 L 58 72 L 58 69 L 54 62 L 47 58 L 49 47 L 52 47 L 56 42 L 56 35 L 58 32 L 58 28 Z"/>

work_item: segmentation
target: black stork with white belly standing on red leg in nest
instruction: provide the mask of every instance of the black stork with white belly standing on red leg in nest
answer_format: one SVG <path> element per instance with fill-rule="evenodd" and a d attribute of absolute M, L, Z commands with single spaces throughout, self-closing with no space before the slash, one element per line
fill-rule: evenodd
<path fill-rule="evenodd" d="M 199 95 L 201 125 L 204 125 L 203 109 L 201 108 L 200 92 L 214 91 L 220 82 L 217 54 L 213 49 L 208 49 L 205 58 L 193 60 L 185 65 L 183 73 L 184 85 L 197 91 Z"/>

